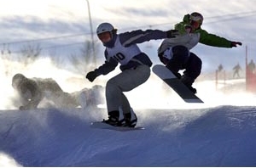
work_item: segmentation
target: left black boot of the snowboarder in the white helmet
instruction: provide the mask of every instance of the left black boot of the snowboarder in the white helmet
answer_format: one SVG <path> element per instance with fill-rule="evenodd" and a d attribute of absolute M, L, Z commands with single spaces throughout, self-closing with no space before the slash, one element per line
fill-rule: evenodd
<path fill-rule="evenodd" d="M 124 126 L 125 125 L 125 118 L 123 113 L 120 113 L 118 110 L 108 112 L 108 120 L 103 120 L 111 126 Z"/>

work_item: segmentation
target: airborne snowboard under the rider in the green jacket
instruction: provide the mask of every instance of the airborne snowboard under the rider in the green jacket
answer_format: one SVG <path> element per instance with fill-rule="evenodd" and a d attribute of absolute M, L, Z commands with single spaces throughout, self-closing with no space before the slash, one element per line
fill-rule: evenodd
<path fill-rule="evenodd" d="M 191 92 L 182 81 L 174 76 L 172 71 L 168 70 L 166 66 L 155 64 L 152 70 L 156 76 L 159 76 L 169 87 L 172 87 L 172 89 L 177 92 L 186 103 L 204 103 L 200 98 L 195 96 L 194 92 Z"/>

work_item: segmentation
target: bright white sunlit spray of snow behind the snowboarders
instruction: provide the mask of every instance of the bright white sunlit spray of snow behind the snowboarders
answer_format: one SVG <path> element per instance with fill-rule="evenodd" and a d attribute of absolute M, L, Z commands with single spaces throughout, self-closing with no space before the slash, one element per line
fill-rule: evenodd
<path fill-rule="evenodd" d="M 11 87 L 11 80 L 12 76 L 16 73 L 22 73 L 26 77 L 50 77 L 55 79 L 65 92 L 75 92 L 96 84 L 105 86 L 106 81 L 119 73 L 119 70 L 115 70 L 107 76 L 99 76 L 96 81 L 91 83 L 84 78 L 84 73 L 77 74 L 68 70 L 58 69 L 47 58 L 38 59 L 26 66 L 19 62 L 2 59 L 0 109 L 15 109 L 11 101 L 15 96 L 14 90 Z M 244 83 L 241 83 L 240 90 L 236 88 L 236 90 L 229 90 L 229 92 L 217 91 L 214 80 L 195 81 L 194 87 L 197 88 L 197 96 L 205 102 L 204 104 L 184 103 L 177 96 L 177 93 L 167 87 L 154 73 L 151 74 L 146 83 L 133 89 L 131 92 L 125 92 L 125 95 L 130 100 L 131 106 L 134 109 L 198 109 L 218 105 L 253 105 L 255 100 L 255 95 L 247 93 L 243 89 Z M 106 106 L 103 104 L 102 107 Z"/>

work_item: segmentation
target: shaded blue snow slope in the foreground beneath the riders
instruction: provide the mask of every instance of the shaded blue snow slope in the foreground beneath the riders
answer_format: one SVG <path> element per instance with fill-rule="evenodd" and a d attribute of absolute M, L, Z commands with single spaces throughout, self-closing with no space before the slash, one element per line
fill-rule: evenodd
<path fill-rule="evenodd" d="M 256 165 L 253 106 L 144 109 L 137 126 L 145 130 L 90 128 L 105 111 L 1 110 L 1 155 L 21 166 Z"/>

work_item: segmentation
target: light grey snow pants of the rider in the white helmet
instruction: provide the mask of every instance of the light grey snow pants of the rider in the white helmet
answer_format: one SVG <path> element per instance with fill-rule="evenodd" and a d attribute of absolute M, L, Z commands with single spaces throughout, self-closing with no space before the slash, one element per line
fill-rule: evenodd
<path fill-rule="evenodd" d="M 123 113 L 130 113 L 131 106 L 123 92 L 131 91 L 148 80 L 150 67 L 139 65 L 136 69 L 124 70 L 113 76 L 106 85 L 106 101 L 108 112 L 123 109 Z"/>

